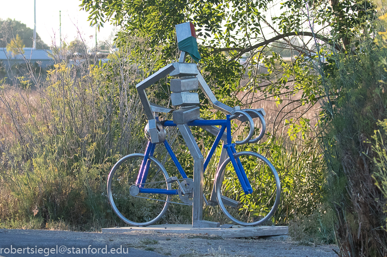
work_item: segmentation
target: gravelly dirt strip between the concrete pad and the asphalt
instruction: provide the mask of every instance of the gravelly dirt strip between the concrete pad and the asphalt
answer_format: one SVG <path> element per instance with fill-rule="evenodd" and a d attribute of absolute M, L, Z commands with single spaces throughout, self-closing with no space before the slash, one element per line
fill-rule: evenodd
<path fill-rule="evenodd" d="M 195 256 L 237 256 L 237 257 L 336 257 L 332 250 L 337 246 L 303 246 L 297 242 L 281 242 L 257 238 L 222 239 L 218 236 L 201 234 L 179 235 L 157 232 L 130 232 L 128 234 L 107 234 L 113 240 L 128 240 L 131 247 L 142 247 L 155 243 L 156 252 L 172 257 Z M 142 243 L 143 242 L 143 243 Z M 149 244 L 150 245 L 150 244 Z"/>

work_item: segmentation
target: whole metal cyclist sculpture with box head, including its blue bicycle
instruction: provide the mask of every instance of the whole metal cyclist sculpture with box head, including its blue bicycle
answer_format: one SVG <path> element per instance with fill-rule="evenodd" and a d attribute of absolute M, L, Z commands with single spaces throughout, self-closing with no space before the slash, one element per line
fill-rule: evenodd
<path fill-rule="evenodd" d="M 193 227 L 219 226 L 218 222 L 203 220 L 204 203 L 219 205 L 223 213 L 235 224 L 245 226 L 262 224 L 274 213 L 280 200 L 281 187 L 278 174 L 265 157 L 254 152 L 237 153 L 235 144 L 255 143 L 263 137 L 265 112 L 263 109 L 240 110 L 238 106 L 229 107 L 219 102 L 197 70 L 196 64 L 185 63 L 187 54 L 190 54 L 195 61 L 200 60 L 194 25 L 191 22 L 176 25 L 176 34 L 181 51 L 179 62 L 167 65 L 136 86 L 148 119 L 145 133 L 149 142 L 145 154 L 128 155 L 118 161 L 110 171 L 108 177 L 110 204 L 114 212 L 132 226 L 148 226 L 160 220 L 172 202 L 173 195 L 179 195 L 184 204 L 193 206 Z M 145 91 L 146 88 L 168 75 L 175 77 L 171 80 L 173 92 L 171 101 L 174 107 L 179 108 L 176 110 L 150 103 Z M 225 120 L 200 118 L 198 93 L 192 92 L 198 87 L 215 109 L 226 114 Z M 172 112 L 173 121 L 160 122 L 157 114 L 159 112 Z M 254 134 L 253 118 L 259 119 L 261 130 L 256 138 L 251 139 Z M 231 142 L 230 121 L 232 119 L 248 121 L 250 125 L 248 136 L 242 141 L 236 141 L 235 144 Z M 193 179 L 187 177 L 166 140 L 164 127 L 168 126 L 179 128 L 194 158 Z M 190 126 L 200 126 L 216 136 L 205 160 Z M 212 193 L 207 201 L 203 195 L 203 174 L 220 140 L 223 141 L 220 160 Z M 181 179 L 176 176 L 170 177 L 163 165 L 153 157 L 155 147 L 160 143 L 166 147 L 182 175 Z M 177 185 L 177 189 L 172 188 L 174 184 Z M 265 199 L 251 199 L 251 196 L 256 196 L 259 192 L 264 192 Z M 134 199 L 130 204 L 128 204 L 129 198 Z M 148 210 L 136 211 L 136 208 L 148 206 L 149 201 L 156 204 L 152 208 L 147 207 Z M 263 203 L 263 201 L 266 202 Z M 138 204 L 137 207 L 136 204 Z M 151 215 L 155 217 L 150 217 Z"/>

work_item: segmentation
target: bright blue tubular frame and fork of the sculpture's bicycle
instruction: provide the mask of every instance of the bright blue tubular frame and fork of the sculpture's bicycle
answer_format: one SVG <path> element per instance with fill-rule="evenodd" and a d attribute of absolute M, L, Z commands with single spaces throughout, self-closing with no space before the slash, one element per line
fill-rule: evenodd
<path fill-rule="evenodd" d="M 176 127 L 177 125 L 170 120 L 167 120 L 163 124 L 165 127 Z M 224 145 L 224 148 L 227 151 L 228 156 L 231 159 L 231 164 L 235 169 L 236 175 L 239 179 L 239 182 L 242 186 L 243 192 L 245 194 L 250 194 L 253 192 L 253 189 L 251 188 L 250 182 L 247 179 L 246 172 L 243 169 L 242 163 L 240 162 L 239 158 L 234 158 L 233 154 L 236 153 L 235 150 L 235 144 L 231 143 L 231 121 L 230 121 L 230 115 L 226 115 L 225 120 L 194 120 L 188 123 L 189 126 L 221 126 L 220 131 L 217 134 L 215 141 L 212 144 L 212 147 L 207 155 L 207 158 L 204 161 L 204 169 L 208 166 L 209 161 L 211 160 L 213 154 L 215 153 L 216 147 L 220 142 L 220 139 L 224 133 L 224 131 L 227 129 L 227 142 Z M 182 175 L 183 178 L 188 178 L 186 172 L 183 170 L 182 165 L 179 163 L 178 159 L 176 158 L 175 153 L 172 151 L 171 146 L 168 144 L 167 140 L 164 141 L 164 146 L 167 149 L 169 155 L 172 158 L 172 161 L 175 163 L 178 171 Z M 178 194 L 177 189 L 159 189 L 159 188 L 144 188 L 144 183 L 148 176 L 148 170 L 149 165 L 151 161 L 149 160 L 150 156 L 153 156 L 155 152 L 156 144 L 151 143 L 151 141 L 148 142 L 147 149 L 144 154 L 144 160 L 141 164 L 140 171 L 136 180 L 136 184 L 139 185 L 140 193 L 155 193 L 155 194 L 169 194 L 169 195 L 176 195 Z"/>

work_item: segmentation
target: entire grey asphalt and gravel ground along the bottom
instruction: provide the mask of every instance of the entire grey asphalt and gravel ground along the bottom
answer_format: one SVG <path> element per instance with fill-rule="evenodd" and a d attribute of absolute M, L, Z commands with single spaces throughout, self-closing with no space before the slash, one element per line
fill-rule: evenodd
<path fill-rule="evenodd" d="M 47 254 L 11 254 L 4 253 L 10 248 L 50 248 L 52 253 Z M 66 247 L 66 253 L 54 253 L 56 246 Z M 302 246 L 296 242 L 278 242 L 246 239 L 222 239 L 208 235 L 178 235 L 149 231 L 131 231 L 126 234 L 102 234 L 71 231 L 47 230 L 4 230 L 0 229 L 0 257 L 25 256 L 106 256 L 105 253 L 77 254 L 86 249 L 120 249 L 124 253 L 110 253 L 108 256 L 130 257 L 336 257 L 332 249 L 338 251 L 336 246 Z M 3 250 L 1 250 L 3 248 Z M 52 250 L 54 249 L 54 250 Z M 69 250 L 70 249 L 70 250 Z M 63 248 L 62 248 L 63 250 Z M 8 250 L 10 251 L 10 250 Z M 14 251 L 14 250 L 13 250 Z M 27 250 L 25 250 L 27 251 Z M 47 250 L 43 250 L 46 251 Z M 70 251 L 70 252 L 68 252 Z M 6 252 L 6 250 L 5 250 Z"/>

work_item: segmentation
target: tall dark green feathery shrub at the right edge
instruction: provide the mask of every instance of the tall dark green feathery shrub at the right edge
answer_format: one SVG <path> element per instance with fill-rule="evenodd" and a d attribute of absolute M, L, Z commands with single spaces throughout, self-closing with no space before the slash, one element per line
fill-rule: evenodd
<path fill-rule="evenodd" d="M 343 256 L 387 253 L 386 162 L 380 143 L 387 142 L 387 134 L 378 122 L 387 118 L 386 50 L 366 37 L 350 53 L 331 54 L 324 67 L 327 95 L 319 124 L 328 172 L 324 191 Z"/>

